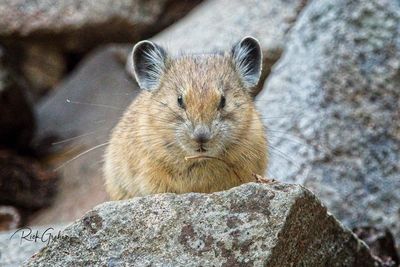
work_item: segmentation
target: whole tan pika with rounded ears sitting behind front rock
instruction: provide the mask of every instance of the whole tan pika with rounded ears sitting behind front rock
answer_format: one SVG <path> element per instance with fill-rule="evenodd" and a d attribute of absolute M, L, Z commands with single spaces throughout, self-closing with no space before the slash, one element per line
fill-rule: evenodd
<path fill-rule="evenodd" d="M 266 133 L 252 97 L 262 69 L 255 38 L 224 53 L 175 57 L 141 41 L 131 56 L 142 91 L 106 149 L 111 199 L 210 193 L 264 174 Z"/>

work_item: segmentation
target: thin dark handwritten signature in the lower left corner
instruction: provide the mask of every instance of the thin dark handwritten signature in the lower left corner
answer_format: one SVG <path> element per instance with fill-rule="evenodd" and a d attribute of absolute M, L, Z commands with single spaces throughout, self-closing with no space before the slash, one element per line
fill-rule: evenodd
<path fill-rule="evenodd" d="M 55 230 L 53 227 L 45 229 L 42 233 L 40 233 L 39 230 L 33 231 L 29 227 L 24 227 L 15 231 L 10 237 L 10 240 L 13 237 L 19 236 L 20 244 L 22 244 L 22 242 L 35 242 L 35 243 L 42 242 L 42 243 L 47 243 L 46 245 L 49 245 L 54 240 L 62 237 L 61 230 L 59 230 L 56 233 L 54 233 L 54 231 Z"/>

